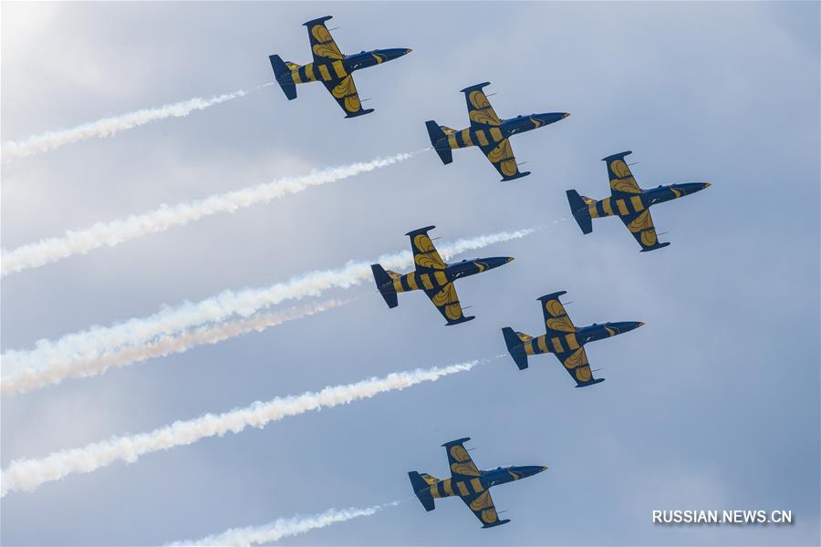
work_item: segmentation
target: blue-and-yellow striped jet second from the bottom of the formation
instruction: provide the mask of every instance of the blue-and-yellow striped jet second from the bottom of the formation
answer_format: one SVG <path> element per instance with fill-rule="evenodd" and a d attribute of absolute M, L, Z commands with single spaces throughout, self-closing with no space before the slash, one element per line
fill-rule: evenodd
<path fill-rule="evenodd" d="M 585 344 L 595 342 L 610 336 L 621 335 L 644 325 L 637 321 L 623 321 L 620 323 L 605 323 L 604 325 L 589 325 L 577 328 L 567 316 L 565 306 L 558 297 L 566 291 L 546 294 L 538 300 L 542 303 L 542 312 L 545 314 L 545 335 L 525 335 L 514 332 L 509 326 L 502 329 L 504 344 L 507 351 L 514 358 L 519 370 L 527 368 L 527 356 L 543 353 L 556 354 L 558 360 L 565 366 L 567 372 L 576 380 L 576 387 L 592 386 L 604 382 L 604 378 L 594 378 L 587 362 Z"/>

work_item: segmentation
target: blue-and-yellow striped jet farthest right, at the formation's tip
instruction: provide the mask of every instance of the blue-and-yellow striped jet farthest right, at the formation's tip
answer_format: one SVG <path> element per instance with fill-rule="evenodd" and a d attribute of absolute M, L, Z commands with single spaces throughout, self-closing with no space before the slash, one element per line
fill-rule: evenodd
<path fill-rule="evenodd" d="M 641 245 L 641 252 L 654 251 L 666 247 L 669 242 L 660 243 L 650 216 L 650 205 L 675 200 L 691 193 L 704 190 L 710 186 L 709 182 L 685 182 L 683 184 L 669 184 L 652 190 L 641 190 L 633 173 L 624 161 L 624 157 L 632 154 L 630 150 L 613 154 L 602 161 L 608 162 L 610 177 L 610 197 L 596 201 L 586 196 L 578 195 L 575 190 L 567 191 L 567 201 L 570 210 L 576 219 L 578 227 L 583 233 L 593 232 L 592 219 L 611 215 L 618 216 L 627 226 L 633 237 Z"/>

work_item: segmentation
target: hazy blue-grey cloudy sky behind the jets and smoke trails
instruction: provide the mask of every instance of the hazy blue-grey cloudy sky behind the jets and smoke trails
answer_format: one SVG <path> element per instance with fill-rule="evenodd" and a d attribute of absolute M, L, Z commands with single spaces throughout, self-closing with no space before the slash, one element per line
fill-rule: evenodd
<path fill-rule="evenodd" d="M 319 84 L 270 86 L 4 163 L 2 247 L 314 168 L 429 145 L 491 81 L 502 117 L 570 112 L 512 140 L 532 175 L 502 183 L 478 150 L 400 164 L 0 281 L 2 350 L 151 315 L 224 289 L 442 241 L 544 226 L 473 255 L 514 256 L 458 284 L 477 319 L 444 328 L 422 294 L 351 304 L 184 354 L 2 398 L 0 466 L 205 412 L 419 366 L 542 334 L 535 299 L 566 290 L 576 325 L 643 321 L 587 346 L 605 383 L 551 356 L 471 372 L 266 428 L 115 463 L 0 501 L 4 545 L 144 545 L 412 496 L 445 477 L 443 442 L 480 468 L 545 465 L 494 489 L 511 523 L 415 499 L 288 545 L 812 545 L 819 538 L 819 5 L 804 3 L 13 3 L 2 11 L 2 141 L 272 81 L 310 60 L 322 15 L 348 53 L 412 47 L 356 74 L 369 116 Z M 633 150 L 639 185 L 709 181 L 661 204 L 653 253 L 615 219 L 583 235 L 565 191 L 603 198 L 601 158 Z M 462 258 L 471 258 L 463 256 Z M 286 309 L 289 304 L 280 306 Z M 278 308 L 277 308 L 278 309 Z M 787 510 L 790 526 L 660 526 L 653 510 Z"/>

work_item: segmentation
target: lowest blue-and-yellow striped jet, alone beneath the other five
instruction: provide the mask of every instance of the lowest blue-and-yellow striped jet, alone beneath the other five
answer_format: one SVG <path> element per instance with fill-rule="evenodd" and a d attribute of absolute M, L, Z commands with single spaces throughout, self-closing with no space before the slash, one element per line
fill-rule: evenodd
<path fill-rule="evenodd" d="M 427 473 L 409 472 L 413 493 L 419 498 L 425 511 L 435 509 L 433 505 L 435 498 L 459 496 L 473 511 L 476 518 L 482 521 L 482 528 L 492 528 L 510 522 L 510 519 L 499 520 L 494 507 L 494 499 L 490 495 L 491 487 L 513 480 L 526 479 L 536 473 L 546 471 L 547 468 L 540 465 L 529 465 L 480 471 L 463 446 L 463 443 L 468 440 L 470 438 L 466 437 L 442 445 L 448 453 L 448 463 L 451 465 L 450 479 L 439 480 Z"/>

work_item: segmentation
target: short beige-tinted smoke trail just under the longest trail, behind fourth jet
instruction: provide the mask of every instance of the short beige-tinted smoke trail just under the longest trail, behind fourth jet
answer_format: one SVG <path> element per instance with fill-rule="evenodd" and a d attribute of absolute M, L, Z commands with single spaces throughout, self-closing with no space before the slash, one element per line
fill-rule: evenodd
<path fill-rule="evenodd" d="M 127 366 L 132 363 L 147 361 L 153 357 L 163 357 L 172 353 L 182 353 L 195 346 L 217 344 L 253 331 L 261 332 L 266 328 L 281 325 L 287 321 L 302 319 L 340 305 L 350 300 L 329 300 L 319 304 L 308 304 L 276 314 L 254 315 L 216 326 L 184 332 L 181 335 L 163 335 L 155 341 L 142 346 L 126 346 L 115 351 L 107 351 L 101 356 L 85 357 L 71 361 L 50 361 L 45 366 L 24 368 L 8 373 L 4 364 L 4 377 L 0 379 L 0 393 L 16 395 L 26 393 L 38 387 L 56 385 L 68 378 L 94 377 L 103 374 L 111 366 Z"/>

